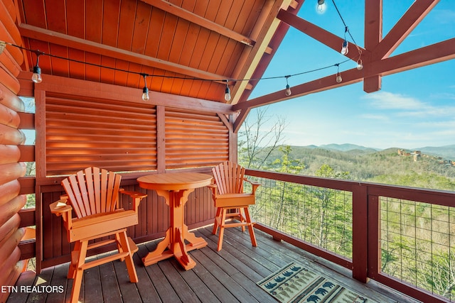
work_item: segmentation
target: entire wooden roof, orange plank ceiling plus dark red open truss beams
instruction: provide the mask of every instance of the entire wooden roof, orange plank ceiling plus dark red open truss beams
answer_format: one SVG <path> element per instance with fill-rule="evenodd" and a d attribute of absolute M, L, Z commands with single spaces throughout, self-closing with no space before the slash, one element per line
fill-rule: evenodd
<path fill-rule="evenodd" d="M 42 55 L 44 79 L 49 74 L 141 89 L 139 74 L 147 74 L 151 91 L 232 104 L 240 112 L 236 130 L 256 106 L 355 82 L 375 92 L 382 76 L 455 58 L 455 38 L 392 56 L 439 0 L 415 0 L 384 36 L 382 0 L 365 0 L 365 45 L 356 46 L 363 70 L 343 71 L 341 83 L 330 75 L 298 84 L 291 96 L 279 91 L 247 100 L 289 26 L 339 52 L 343 38 L 297 16 L 304 0 L 15 1 L 23 46 L 80 61 Z M 314 9 L 316 0 L 308 1 Z M 36 55 L 26 53 L 23 69 L 31 71 Z M 358 52 L 347 57 L 355 62 Z M 227 79 L 252 80 L 230 81 L 232 99 L 225 101 Z"/>

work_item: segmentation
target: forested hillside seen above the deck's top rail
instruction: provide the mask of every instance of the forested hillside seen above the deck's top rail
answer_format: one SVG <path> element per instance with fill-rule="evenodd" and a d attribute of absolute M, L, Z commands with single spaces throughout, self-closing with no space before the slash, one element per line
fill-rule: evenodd
<path fill-rule="evenodd" d="M 316 175 L 322 165 L 329 165 L 336 172 L 348 172 L 350 180 L 455 190 L 455 166 L 436 155 L 422 153 L 414 160 L 412 155 L 399 155 L 399 148 L 340 151 L 326 147 L 291 146 L 289 159 L 303 163 L 301 175 Z M 272 151 L 262 168 L 277 168 L 279 164 L 274 164 L 274 160 L 282 158 L 282 150 Z M 268 153 L 269 149 L 264 148 L 257 153 L 257 158 L 263 159 Z"/>

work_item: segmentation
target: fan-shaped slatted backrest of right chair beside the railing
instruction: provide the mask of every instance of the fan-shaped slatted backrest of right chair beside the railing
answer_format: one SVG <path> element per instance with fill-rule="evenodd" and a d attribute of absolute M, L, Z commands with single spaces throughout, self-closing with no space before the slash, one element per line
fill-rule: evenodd
<path fill-rule="evenodd" d="M 239 194 L 243 192 L 245 167 L 225 161 L 212 169 L 215 184 L 220 194 Z"/>

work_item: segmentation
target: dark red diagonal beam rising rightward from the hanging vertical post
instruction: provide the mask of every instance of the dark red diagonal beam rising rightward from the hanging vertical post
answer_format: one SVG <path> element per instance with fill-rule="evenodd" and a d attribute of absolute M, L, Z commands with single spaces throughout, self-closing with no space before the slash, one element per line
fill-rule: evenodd
<path fill-rule="evenodd" d="M 368 1 L 367 1 L 368 2 Z M 439 0 L 416 0 L 376 48 L 370 48 L 373 60 L 388 57 L 427 16 Z M 368 4 L 365 4 L 368 6 Z M 366 35 L 366 34 L 365 34 Z"/>

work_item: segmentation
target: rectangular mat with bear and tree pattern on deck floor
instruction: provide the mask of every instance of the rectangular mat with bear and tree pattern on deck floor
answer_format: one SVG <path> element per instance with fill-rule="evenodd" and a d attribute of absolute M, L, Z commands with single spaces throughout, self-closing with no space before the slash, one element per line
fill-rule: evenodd
<path fill-rule="evenodd" d="M 257 285 L 282 303 L 378 303 L 297 263 L 288 264 Z"/>

